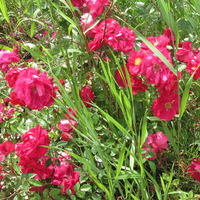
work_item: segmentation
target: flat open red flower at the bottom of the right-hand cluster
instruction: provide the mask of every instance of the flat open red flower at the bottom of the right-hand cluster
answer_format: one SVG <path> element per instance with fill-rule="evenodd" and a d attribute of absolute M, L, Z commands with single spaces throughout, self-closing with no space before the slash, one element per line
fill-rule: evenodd
<path fill-rule="evenodd" d="M 153 102 L 153 115 L 164 121 L 173 119 L 179 111 L 178 98 L 179 96 L 177 93 L 161 94 L 161 96 Z"/>

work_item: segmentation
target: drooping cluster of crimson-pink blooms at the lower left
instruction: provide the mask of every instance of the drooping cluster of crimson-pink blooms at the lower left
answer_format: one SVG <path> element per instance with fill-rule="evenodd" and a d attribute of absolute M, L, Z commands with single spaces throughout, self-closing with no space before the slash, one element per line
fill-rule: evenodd
<path fill-rule="evenodd" d="M 74 171 L 74 166 L 67 162 L 71 157 L 62 154 L 54 157 L 47 166 L 47 161 L 51 159 L 47 155 L 46 146 L 50 145 L 47 130 L 37 125 L 24 133 L 21 138 L 22 142 L 16 144 L 16 154 L 19 157 L 18 165 L 21 166 L 22 173 L 34 173 L 36 174 L 34 178 L 38 180 L 50 178 L 52 184 L 62 186 L 63 194 L 67 194 L 67 189 L 74 194 L 74 185 L 79 181 L 79 172 Z"/>

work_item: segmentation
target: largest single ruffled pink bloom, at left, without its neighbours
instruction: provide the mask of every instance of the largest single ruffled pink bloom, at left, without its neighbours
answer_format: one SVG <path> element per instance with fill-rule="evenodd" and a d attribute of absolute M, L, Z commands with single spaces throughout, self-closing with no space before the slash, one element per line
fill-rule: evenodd
<path fill-rule="evenodd" d="M 35 68 L 27 68 L 20 72 L 14 91 L 17 98 L 25 102 L 30 109 L 41 110 L 50 106 L 56 97 L 52 79 L 46 72 L 39 74 Z"/>

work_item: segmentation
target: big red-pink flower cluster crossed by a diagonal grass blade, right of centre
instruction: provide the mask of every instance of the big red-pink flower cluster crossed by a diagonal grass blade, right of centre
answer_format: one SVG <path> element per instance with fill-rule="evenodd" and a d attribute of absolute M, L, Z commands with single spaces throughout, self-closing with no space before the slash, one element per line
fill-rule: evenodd
<path fill-rule="evenodd" d="M 168 28 L 164 34 L 157 37 L 148 37 L 151 42 L 173 65 L 171 53 L 168 45 L 172 43 L 173 33 Z M 128 81 L 127 77 L 130 77 Z M 129 86 L 131 83 L 133 94 L 138 91 L 144 92 L 147 89 L 145 82 L 158 90 L 160 96 L 154 100 L 152 105 L 153 114 L 161 120 L 171 120 L 178 114 L 179 95 L 178 79 L 181 73 L 176 76 L 161 61 L 161 59 L 152 52 L 145 43 L 141 43 L 140 50 L 132 50 L 129 54 L 127 64 L 120 70 L 116 70 L 115 79 L 119 86 Z"/>

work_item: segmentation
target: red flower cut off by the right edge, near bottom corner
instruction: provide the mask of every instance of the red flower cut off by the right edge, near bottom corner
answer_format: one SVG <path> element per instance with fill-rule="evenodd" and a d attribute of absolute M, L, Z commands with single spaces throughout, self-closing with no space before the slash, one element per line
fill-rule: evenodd
<path fill-rule="evenodd" d="M 188 174 L 195 180 L 200 182 L 200 159 L 193 158 L 188 166 Z"/>

